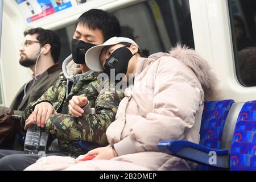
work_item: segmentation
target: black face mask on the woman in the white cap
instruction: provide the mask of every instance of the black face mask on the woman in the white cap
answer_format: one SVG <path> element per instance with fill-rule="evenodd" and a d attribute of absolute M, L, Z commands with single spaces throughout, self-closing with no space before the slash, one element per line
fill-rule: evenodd
<path fill-rule="evenodd" d="M 110 77 L 111 69 L 115 70 L 115 76 L 118 73 L 126 74 L 131 57 L 133 57 L 133 54 L 127 47 L 120 47 L 116 49 L 112 55 L 106 59 L 106 74 Z"/>

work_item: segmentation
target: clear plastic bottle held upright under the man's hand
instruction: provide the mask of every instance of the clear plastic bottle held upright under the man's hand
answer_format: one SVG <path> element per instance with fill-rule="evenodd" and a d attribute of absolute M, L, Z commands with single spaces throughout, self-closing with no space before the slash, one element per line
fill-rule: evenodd
<path fill-rule="evenodd" d="M 24 142 L 24 154 L 45 154 L 48 133 L 38 126 L 30 126 Z"/>

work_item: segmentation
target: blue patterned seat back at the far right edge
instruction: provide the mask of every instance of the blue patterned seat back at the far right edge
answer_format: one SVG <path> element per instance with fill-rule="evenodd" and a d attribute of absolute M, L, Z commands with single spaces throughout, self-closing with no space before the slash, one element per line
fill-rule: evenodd
<path fill-rule="evenodd" d="M 230 149 L 230 170 L 256 170 L 256 101 L 245 102 L 237 118 Z"/>

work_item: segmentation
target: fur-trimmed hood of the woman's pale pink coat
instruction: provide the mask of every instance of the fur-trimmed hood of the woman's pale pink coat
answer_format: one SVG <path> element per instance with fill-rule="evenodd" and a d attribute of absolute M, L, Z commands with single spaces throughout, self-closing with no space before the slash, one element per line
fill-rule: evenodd
<path fill-rule="evenodd" d="M 201 86 L 204 90 L 204 100 L 210 101 L 216 97 L 217 94 L 217 77 L 210 69 L 210 65 L 203 59 L 195 50 L 189 49 L 186 46 L 177 44 L 175 48 L 172 48 L 170 53 L 155 53 L 148 57 L 151 61 L 159 59 L 162 56 L 175 57 L 180 60 L 187 67 L 191 68 L 199 79 Z M 150 63 L 147 63 L 150 64 Z"/>

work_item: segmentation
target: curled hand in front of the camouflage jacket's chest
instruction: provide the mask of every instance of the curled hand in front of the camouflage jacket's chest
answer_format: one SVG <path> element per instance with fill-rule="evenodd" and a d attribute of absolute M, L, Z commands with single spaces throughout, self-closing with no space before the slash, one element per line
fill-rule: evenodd
<path fill-rule="evenodd" d="M 72 99 L 69 101 L 68 105 L 69 113 L 74 117 L 80 117 L 82 113 L 84 113 L 82 107 L 86 104 L 88 104 L 88 100 L 86 97 L 73 96 Z"/>

